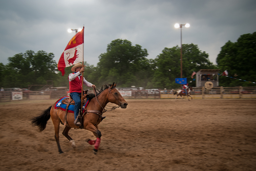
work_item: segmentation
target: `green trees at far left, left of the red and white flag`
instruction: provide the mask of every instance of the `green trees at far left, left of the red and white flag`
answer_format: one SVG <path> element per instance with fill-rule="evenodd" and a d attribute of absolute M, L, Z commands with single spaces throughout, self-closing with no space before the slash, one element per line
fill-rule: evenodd
<path fill-rule="evenodd" d="M 27 88 L 28 85 L 40 85 L 47 80 L 56 80 L 57 64 L 53 58 L 53 53 L 35 53 L 31 50 L 9 57 L 9 63 L 2 71 L 2 85 L 6 88 Z"/>

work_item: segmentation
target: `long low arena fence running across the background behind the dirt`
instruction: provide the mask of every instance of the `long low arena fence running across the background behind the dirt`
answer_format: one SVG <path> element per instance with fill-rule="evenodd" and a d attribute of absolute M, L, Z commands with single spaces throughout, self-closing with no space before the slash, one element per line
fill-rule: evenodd
<path fill-rule="evenodd" d="M 125 99 L 175 99 L 179 89 L 119 91 Z M 93 93 L 89 91 L 88 93 Z M 59 99 L 68 96 L 67 91 L 23 91 L 0 92 L 0 102 L 12 100 Z M 256 87 L 194 87 L 190 92 L 193 99 L 255 99 Z M 180 98 L 180 97 L 178 97 Z M 184 97 L 183 97 L 184 98 Z M 186 98 L 186 97 L 185 97 Z"/>

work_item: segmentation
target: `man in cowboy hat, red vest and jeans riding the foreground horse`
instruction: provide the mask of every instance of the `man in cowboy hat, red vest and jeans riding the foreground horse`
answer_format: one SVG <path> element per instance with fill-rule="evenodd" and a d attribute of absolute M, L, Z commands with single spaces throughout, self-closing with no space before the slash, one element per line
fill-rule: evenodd
<path fill-rule="evenodd" d="M 92 83 L 89 83 L 88 81 L 85 80 L 85 78 L 82 78 L 81 73 L 83 73 L 85 71 L 85 68 L 82 68 L 82 64 L 81 63 L 77 63 L 75 64 L 72 68 L 71 71 L 73 71 L 73 73 L 69 74 L 69 92 L 70 92 L 70 97 L 72 97 L 72 99 L 75 101 L 75 106 L 74 106 L 74 116 L 75 116 L 75 122 L 74 124 L 77 126 L 81 125 L 80 120 L 77 118 L 78 113 L 79 113 L 79 109 L 81 106 L 81 92 L 82 92 L 82 86 L 83 84 L 85 84 L 87 87 L 93 87 L 96 88 L 95 85 L 93 85 Z M 83 83 L 82 81 L 80 81 L 81 79 L 83 79 Z"/>

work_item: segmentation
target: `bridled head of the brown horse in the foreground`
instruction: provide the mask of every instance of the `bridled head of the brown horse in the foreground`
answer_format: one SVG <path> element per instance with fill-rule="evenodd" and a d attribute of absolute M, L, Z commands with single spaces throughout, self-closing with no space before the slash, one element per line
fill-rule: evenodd
<path fill-rule="evenodd" d="M 108 88 L 108 101 L 111 103 L 115 103 L 116 105 L 119 105 L 121 108 L 126 108 L 128 103 L 124 100 L 122 95 L 119 93 L 119 91 L 116 89 L 116 83 L 114 82 L 109 88 Z"/>

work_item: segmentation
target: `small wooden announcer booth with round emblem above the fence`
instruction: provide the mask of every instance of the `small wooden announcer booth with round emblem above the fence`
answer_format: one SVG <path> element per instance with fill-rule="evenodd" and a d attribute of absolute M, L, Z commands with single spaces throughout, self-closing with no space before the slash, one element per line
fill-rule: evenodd
<path fill-rule="evenodd" d="M 200 69 L 196 73 L 196 87 L 219 87 L 219 69 Z"/>

